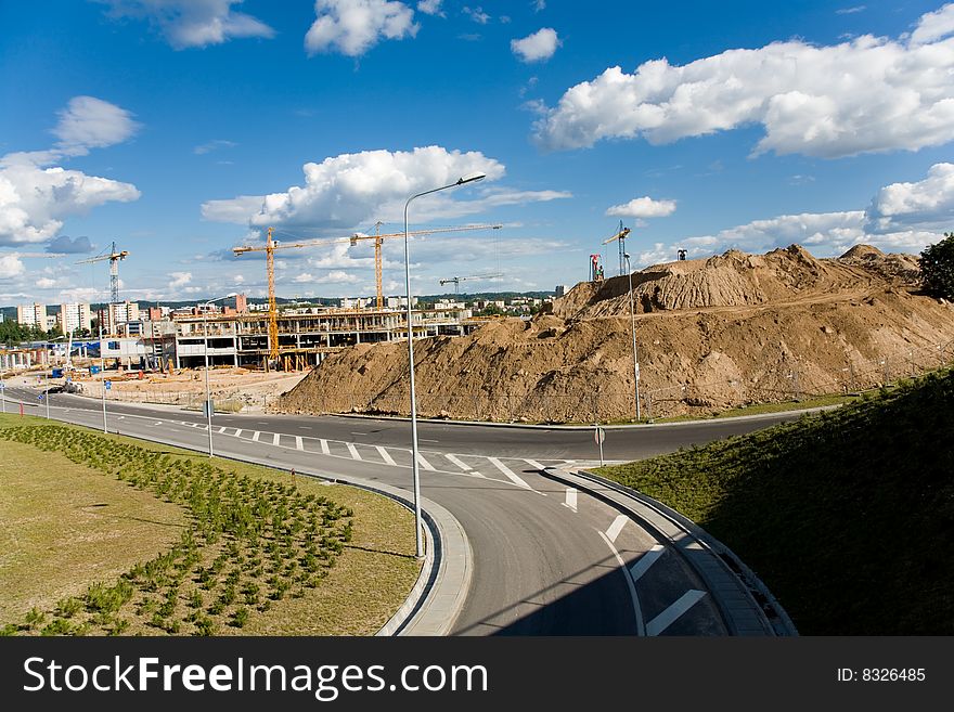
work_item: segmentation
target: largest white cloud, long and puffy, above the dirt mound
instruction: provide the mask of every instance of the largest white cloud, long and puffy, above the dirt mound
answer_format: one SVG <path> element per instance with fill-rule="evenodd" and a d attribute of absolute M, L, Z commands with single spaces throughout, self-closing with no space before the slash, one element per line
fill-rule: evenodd
<path fill-rule="evenodd" d="M 756 153 L 834 158 L 941 145 L 954 139 L 952 7 L 925 15 L 911 41 L 792 40 L 682 66 L 655 60 L 633 74 L 610 67 L 568 89 L 534 124 L 534 139 L 551 150 L 614 138 L 661 144 L 760 124 Z"/>

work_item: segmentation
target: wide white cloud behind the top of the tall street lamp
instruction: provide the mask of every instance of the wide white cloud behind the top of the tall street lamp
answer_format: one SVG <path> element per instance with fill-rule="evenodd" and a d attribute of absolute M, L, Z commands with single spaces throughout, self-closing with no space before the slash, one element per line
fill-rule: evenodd
<path fill-rule="evenodd" d="M 203 205 L 208 220 L 247 222 L 253 228 L 341 229 L 392 220 L 402 213 L 409 195 L 455 182 L 460 177 L 484 172 L 488 180 L 504 174 L 504 167 L 479 152 L 462 153 L 440 146 L 410 152 L 364 151 L 325 158 L 304 166 L 305 185 L 258 197 L 210 200 Z M 448 191 L 450 192 L 450 191 Z M 497 196 L 490 200 L 517 199 Z M 466 203 L 444 195 L 429 196 L 415 208 L 425 215 L 466 215 Z"/>

